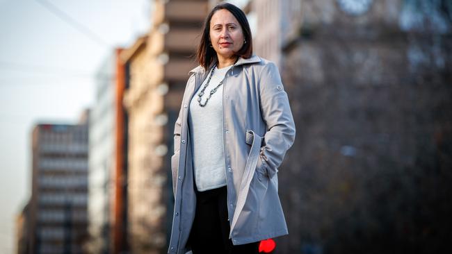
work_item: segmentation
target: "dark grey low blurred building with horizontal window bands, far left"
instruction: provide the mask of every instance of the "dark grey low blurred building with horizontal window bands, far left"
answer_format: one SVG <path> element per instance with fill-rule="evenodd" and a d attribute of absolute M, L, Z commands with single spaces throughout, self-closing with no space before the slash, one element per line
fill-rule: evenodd
<path fill-rule="evenodd" d="M 88 226 L 88 112 L 33 128 L 29 253 L 82 253 Z"/>

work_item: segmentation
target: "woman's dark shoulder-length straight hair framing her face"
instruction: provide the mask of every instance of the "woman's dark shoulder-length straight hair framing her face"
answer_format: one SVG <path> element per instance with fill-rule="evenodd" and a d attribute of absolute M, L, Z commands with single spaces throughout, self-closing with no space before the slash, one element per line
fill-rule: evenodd
<path fill-rule="evenodd" d="M 234 15 L 234 17 L 239 21 L 239 24 L 243 31 L 243 37 L 246 43 L 243 44 L 242 48 L 236 53 L 236 56 L 241 56 L 242 58 L 250 58 L 252 56 L 252 35 L 250 24 L 248 24 L 248 19 L 246 19 L 245 13 L 234 6 L 231 3 L 220 3 L 215 6 L 209 15 L 207 15 L 204 21 L 204 26 L 202 28 L 202 37 L 200 44 L 197 46 L 196 59 L 204 69 L 208 69 L 213 60 L 216 59 L 216 51 L 210 46 L 210 21 L 213 14 L 217 10 L 228 10 Z"/>

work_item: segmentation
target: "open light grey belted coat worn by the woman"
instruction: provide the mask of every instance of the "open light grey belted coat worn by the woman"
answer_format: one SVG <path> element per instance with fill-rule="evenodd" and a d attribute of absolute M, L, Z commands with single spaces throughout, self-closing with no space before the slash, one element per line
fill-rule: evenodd
<path fill-rule="evenodd" d="M 168 253 L 186 253 L 195 217 L 193 161 L 188 110 L 207 76 L 196 67 L 182 99 L 175 124 L 171 158 L 175 209 Z M 295 124 L 279 71 L 273 62 L 239 58 L 223 83 L 223 137 L 229 237 L 234 245 L 286 235 L 287 226 L 277 194 L 277 167 L 295 138 Z"/>

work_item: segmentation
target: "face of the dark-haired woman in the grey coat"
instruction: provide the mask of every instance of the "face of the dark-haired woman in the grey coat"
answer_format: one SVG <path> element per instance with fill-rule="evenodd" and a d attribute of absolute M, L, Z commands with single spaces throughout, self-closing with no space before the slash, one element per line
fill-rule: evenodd
<path fill-rule="evenodd" d="M 210 20 L 210 41 L 218 58 L 232 58 L 243 46 L 242 27 L 229 10 L 216 11 Z"/>

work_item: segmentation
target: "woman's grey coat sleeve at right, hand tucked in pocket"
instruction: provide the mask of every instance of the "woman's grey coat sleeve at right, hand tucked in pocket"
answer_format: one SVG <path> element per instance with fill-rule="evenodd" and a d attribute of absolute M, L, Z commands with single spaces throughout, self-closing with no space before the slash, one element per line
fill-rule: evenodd
<path fill-rule="evenodd" d="M 280 72 L 273 62 L 268 62 L 259 74 L 259 96 L 261 115 L 267 130 L 257 167 L 264 169 L 268 177 L 272 178 L 286 151 L 292 146 L 296 133 L 289 99 Z"/>

